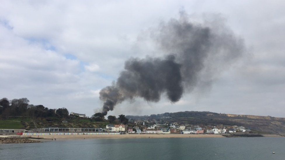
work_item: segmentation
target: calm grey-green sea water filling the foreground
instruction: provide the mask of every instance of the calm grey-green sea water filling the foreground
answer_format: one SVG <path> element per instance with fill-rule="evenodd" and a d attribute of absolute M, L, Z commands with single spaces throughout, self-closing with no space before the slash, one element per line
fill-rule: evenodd
<path fill-rule="evenodd" d="M 85 139 L 0 144 L 0 159 L 272 160 L 285 159 L 285 138 Z"/>

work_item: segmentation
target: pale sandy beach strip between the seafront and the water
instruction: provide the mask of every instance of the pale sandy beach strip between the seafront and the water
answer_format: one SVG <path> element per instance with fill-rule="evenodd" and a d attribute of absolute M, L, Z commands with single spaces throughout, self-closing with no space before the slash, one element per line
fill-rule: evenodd
<path fill-rule="evenodd" d="M 21 136 L 24 137 L 24 136 Z M 44 136 L 27 136 L 39 137 L 56 140 L 72 139 L 121 139 L 121 138 L 222 138 L 222 135 L 214 134 L 122 134 L 122 135 L 44 135 Z"/>

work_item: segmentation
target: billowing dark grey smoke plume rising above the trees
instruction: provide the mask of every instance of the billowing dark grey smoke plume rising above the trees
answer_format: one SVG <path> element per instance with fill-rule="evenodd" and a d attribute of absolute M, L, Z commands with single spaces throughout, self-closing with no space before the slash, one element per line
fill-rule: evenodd
<path fill-rule="evenodd" d="M 197 81 L 211 79 L 244 50 L 243 41 L 223 25 L 191 23 L 183 12 L 180 19 L 161 24 L 153 38 L 166 56 L 126 61 L 117 81 L 100 91 L 104 115 L 116 104 L 135 97 L 158 102 L 166 93 L 171 102 L 177 102 Z"/>

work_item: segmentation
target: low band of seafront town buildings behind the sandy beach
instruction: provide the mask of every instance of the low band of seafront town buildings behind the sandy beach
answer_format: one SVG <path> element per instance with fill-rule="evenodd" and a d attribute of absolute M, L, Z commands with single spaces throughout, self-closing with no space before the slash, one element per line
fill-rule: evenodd
<path fill-rule="evenodd" d="M 105 128 L 64 128 L 47 127 L 38 129 L 0 129 L 0 134 L 17 135 L 76 135 L 76 134 L 230 134 L 251 133 L 243 126 L 198 126 L 189 124 L 161 124 L 150 122 L 130 122 L 127 124 L 107 124 Z"/>

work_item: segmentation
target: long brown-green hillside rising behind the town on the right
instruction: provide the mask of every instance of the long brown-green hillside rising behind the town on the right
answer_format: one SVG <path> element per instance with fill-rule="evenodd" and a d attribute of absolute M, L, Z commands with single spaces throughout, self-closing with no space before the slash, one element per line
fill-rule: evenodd
<path fill-rule="evenodd" d="M 150 116 L 126 116 L 133 120 L 155 120 L 160 122 L 178 122 L 192 125 L 238 125 L 258 131 L 260 133 L 273 133 L 285 136 L 285 118 L 254 115 L 233 115 L 214 112 L 185 111 L 163 113 Z"/>

